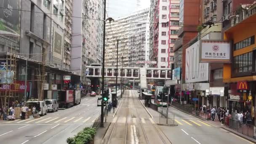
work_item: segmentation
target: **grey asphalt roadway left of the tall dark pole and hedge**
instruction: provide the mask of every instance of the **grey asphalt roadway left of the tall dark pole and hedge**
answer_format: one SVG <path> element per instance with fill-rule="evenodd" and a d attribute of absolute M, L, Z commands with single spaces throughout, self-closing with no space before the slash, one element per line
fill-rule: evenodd
<path fill-rule="evenodd" d="M 0 144 L 65 144 L 99 116 L 97 97 L 88 96 L 77 106 L 39 119 L 0 121 Z"/>

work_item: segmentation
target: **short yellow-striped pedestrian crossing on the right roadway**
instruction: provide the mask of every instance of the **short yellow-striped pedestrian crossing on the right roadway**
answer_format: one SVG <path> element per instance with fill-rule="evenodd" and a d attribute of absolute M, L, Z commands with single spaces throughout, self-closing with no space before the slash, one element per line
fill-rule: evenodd
<path fill-rule="evenodd" d="M 211 127 L 207 122 L 203 122 L 201 120 L 189 120 L 189 119 L 179 119 L 179 120 L 174 120 L 176 124 L 178 125 L 189 125 L 189 126 L 208 126 Z"/>

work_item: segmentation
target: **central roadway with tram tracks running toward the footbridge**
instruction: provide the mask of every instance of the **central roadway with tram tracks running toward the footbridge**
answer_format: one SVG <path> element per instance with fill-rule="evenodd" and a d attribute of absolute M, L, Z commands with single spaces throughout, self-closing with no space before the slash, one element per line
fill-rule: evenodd
<path fill-rule="evenodd" d="M 136 93 L 125 91 L 101 144 L 171 144 L 144 109 Z"/>

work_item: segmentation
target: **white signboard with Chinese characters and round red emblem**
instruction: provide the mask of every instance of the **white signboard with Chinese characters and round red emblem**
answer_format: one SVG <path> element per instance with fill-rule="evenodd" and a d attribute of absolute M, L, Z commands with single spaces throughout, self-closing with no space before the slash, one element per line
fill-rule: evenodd
<path fill-rule="evenodd" d="M 201 62 L 206 63 L 230 63 L 229 41 L 202 40 Z"/>

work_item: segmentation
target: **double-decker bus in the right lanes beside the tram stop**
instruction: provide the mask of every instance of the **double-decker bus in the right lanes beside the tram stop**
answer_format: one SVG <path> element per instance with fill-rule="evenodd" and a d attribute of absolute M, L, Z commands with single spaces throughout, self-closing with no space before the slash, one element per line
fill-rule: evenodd
<path fill-rule="evenodd" d="M 168 95 L 170 94 L 170 89 L 167 86 L 156 86 L 155 87 L 155 104 L 157 106 L 167 107 L 168 105 Z"/>

